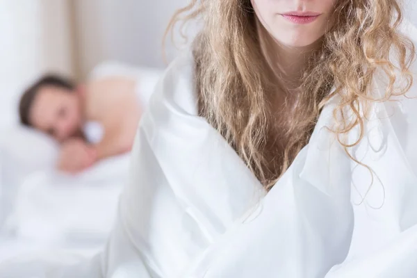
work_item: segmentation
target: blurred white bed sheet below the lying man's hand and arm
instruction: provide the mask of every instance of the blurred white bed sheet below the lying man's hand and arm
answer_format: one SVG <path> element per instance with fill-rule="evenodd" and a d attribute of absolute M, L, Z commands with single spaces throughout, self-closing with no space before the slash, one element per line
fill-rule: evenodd
<path fill-rule="evenodd" d="M 113 226 L 130 154 L 108 158 L 76 176 L 31 174 L 0 230 L 0 261 L 51 249 L 99 251 Z"/>

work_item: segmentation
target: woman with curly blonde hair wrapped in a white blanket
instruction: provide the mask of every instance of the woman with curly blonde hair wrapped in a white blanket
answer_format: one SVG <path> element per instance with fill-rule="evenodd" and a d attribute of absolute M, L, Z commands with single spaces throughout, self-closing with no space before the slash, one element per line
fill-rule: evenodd
<path fill-rule="evenodd" d="M 142 118 L 106 252 L 50 277 L 415 277 L 414 29 L 398 1 L 182 12 L 204 26 Z"/>

